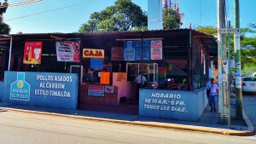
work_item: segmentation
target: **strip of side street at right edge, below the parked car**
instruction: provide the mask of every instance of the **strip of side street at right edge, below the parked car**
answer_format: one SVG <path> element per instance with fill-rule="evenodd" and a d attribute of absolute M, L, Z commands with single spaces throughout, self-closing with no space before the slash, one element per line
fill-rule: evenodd
<path fill-rule="evenodd" d="M 243 94 L 242 107 L 247 113 L 247 117 L 253 123 L 255 128 L 256 127 L 256 94 Z M 256 136 L 256 133 L 254 133 L 254 136 Z"/>

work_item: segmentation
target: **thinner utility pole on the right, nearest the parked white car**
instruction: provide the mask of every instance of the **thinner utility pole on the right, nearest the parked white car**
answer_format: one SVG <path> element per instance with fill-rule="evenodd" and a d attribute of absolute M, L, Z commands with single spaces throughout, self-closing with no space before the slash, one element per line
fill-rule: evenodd
<path fill-rule="evenodd" d="M 235 28 L 240 29 L 240 9 L 239 0 L 234 1 L 234 11 L 235 11 Z M 241 48 L 240 48 L 240 33 L 234 34 L 234 46 L 236 52 L 236 118 L 242 118 L 242 95 L 241 95 Z"/>

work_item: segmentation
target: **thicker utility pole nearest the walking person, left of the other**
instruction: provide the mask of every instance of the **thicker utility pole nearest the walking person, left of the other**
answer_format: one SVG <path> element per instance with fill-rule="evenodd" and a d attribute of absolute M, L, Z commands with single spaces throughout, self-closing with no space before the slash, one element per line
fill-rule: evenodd
<path fill-rule="evenodd" d="M 229 117 L 229 101 L 227 101 L 229 84 L 228 73 L 224 72 L 223 69 L 223 60 L 227 60 L 227 49 L 225 46 L 225 35 L 220 30 L 225 28 L 225 0 L 218 0 L 217 3 L 218 11 L 218 123 L 219 124 L 228 124 Z"/>

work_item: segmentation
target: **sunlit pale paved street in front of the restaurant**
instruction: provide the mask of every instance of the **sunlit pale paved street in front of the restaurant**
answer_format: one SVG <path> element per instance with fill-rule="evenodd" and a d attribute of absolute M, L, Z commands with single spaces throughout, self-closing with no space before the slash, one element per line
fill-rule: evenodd
<path fill-rule="evenodd" d="M 0 111 L 0 143 L 256 143 L 254 136 L 212 135 L 27 112 Z"/>

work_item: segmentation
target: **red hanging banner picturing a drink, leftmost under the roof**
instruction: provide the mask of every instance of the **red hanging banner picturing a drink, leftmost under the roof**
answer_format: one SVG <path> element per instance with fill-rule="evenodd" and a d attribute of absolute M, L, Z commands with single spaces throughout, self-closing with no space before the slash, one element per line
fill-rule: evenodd
<path fill-rule="evenodd" d="M 41 64 L 42 42 L 25 42 L 24 45 L 24 64 Z"/>

